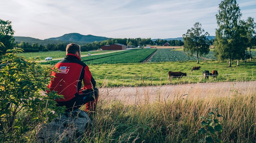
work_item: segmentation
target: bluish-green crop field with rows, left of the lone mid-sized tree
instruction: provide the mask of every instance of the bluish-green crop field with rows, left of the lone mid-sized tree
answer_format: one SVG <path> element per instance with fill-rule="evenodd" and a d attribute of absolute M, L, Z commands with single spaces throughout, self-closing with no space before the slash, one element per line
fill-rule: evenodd
<path fill-rule="evenodd" d="M 189 61 L 196 60 L 195 56 L 188 56 L 182 51 L 172 51 L 172 49 L 158 49 L 150 58 L 149 62 L 165 62 L 165 61 Z M 199 60 L 202 60 L 199 58 Z"/>

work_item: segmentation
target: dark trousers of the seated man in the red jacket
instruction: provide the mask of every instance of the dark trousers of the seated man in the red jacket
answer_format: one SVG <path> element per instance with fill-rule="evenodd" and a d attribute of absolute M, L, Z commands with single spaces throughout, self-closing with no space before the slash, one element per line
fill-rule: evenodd
<path fill-rule="evenodd" d="M 91 104 L 91 102 L 93 102 L 95 105 L 95 109 L 96 109 L 96 103 L 98 100 L 98 89 L 94 88 L 94 90 L 80 90 L 79 94 L 75 95 L 74 98 L 72 98 L 69 101 L 63 101 L 63 102 L 58 102 L 57 101 L 57 106 L 66 106 L 68 111 L 72 111 L 75 109 L 80 108 L 82 105 L 86 104 L 86 109 L 85 111 L 88 111 L 90 109 L 88 108 L 87 104 Z M 90 105 L 89 105 L 89 108 Z"/>

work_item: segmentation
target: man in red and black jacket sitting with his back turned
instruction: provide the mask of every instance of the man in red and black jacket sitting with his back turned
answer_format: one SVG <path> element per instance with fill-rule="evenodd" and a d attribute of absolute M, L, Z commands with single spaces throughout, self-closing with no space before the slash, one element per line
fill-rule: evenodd
<path fill-rule="evenodd" d="M 52 72 L 55 78 L 47 86 L 51 91 L 58 91 L 64 99 L 57 99 L 57 106 L 66 106 L 69 111 L 86 104 L 86 112 L 95 111 L 98 100 L 96 82 L 87 65 L 81 61 L 80 46 L 75 43 L 66 47 L 65 59 L 59 61 Z M 82 87 L 83 80 L 83 88 Z"/>

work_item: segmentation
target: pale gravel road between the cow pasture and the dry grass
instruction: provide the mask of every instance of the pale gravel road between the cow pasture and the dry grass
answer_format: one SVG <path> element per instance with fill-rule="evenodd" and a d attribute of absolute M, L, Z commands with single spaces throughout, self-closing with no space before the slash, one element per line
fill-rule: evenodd
<path fill-rule="evenodd" d="M 236 94 L 253 93 L 256 93 L 256 81 L 101 88 L 100 99 L 134 104 L 174 100 L 176 98 L 229 97 Z"/>

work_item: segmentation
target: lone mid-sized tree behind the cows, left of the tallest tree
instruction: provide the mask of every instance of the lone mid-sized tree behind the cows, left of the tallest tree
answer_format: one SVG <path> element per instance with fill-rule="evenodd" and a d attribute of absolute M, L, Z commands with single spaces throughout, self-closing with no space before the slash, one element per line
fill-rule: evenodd
<path fill-rule="evenodd" d="M 197 63 L 199 63 L 198 55 L 205 55 L 210 51 L 208 39 L 206 38 L 206 36 L 209 36 L 209 34 L 208 32 L 205 32 L 201 26 L 202 25 L 197 22 L 194 24 L 194 28 L 192 27 L 191 29 L 188 29 L 187 33 L 183 34 L 183 49 L 184 51 L 190 52 L 191 55 L 196 53 Z"/>

